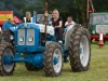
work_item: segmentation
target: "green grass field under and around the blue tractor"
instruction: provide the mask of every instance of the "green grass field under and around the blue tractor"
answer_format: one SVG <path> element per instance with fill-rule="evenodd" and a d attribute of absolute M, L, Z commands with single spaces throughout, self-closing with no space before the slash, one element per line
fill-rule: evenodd
<path fill-rule="evenodd" d="M 90 69 L 84 72 L 72 72 L 70 65 L 64 64 L 60 77 L 49 78 L 44 71 L 27 71 L 24 64 L 16 64 L 13 76 L 0 77 L 0 81 L 108 81 L 108 43 L 104 49 L 97 44 L 91 45 Z"/>

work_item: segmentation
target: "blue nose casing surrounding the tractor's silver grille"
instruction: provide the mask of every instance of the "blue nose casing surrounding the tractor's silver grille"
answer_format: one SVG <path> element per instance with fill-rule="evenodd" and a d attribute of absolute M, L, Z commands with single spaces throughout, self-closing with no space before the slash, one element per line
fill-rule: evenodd
<path fill-rule="evenodd" d="M 25 24 L 21 24 L 18 26 L 17 30 L 21 29 L 24 26 L 25 26 Z M 26 26 L 29 27 L 29 28 L 33 28 L 35 29 L 35 39 L 36 39 L 35 40 L 35 45 L 26 45 L 26 43 L 25 43 L 25 45 L 18 45 L 17 44 L 17 38 L 16 38 L 15 39 L 15 45 L 17 45 L 17 49 L 16 49 L 17 52 L 35 52 L 35 51 L 38 50 L 38 46 L 39 46 L 39 33 L 40 33 L 39 26 L 36 25 L 36 24 L 31 24 L 31 23 L 26 23 Z M 25 35 L 26 35 L 25 38 L 27 37 L 27 29 L 28 28 L 25 28 Z M 18 35 L 17 30 L 15 32 L 15 37 L 17 37 L 17 35 Z M 27 40 L 27 38 L 26 38 L 26 40 Z"/>

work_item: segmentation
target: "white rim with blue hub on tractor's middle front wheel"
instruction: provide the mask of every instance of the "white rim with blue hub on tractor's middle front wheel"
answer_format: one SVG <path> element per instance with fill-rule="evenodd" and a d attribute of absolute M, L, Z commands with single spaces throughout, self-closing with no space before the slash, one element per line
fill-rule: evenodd
<path fill-rule="evenodd" d="M 54 59 L 56 59 L 56 64 L 54 63 Z M 53 55 L 53 68 L 54 68 L 54 71 L 56 73 L 58 73 L 60 71 L 62 63 L 63 63 L 63 60 L 62 60 L 62 52 L 60 52 L 60 50 L 56 49 L 54 51 L 54 55 Z"/>

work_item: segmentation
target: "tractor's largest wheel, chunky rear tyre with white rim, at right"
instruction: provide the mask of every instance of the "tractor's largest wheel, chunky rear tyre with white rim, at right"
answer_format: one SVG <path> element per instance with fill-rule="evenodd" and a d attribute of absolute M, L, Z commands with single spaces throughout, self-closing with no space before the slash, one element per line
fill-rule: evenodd
<path fill-rule="evenodd" d="M 86 71 L 91 60 L 91 44 L 85 28 L 77 28 L 70 35 L 69 59 L 72 71 Z"/>

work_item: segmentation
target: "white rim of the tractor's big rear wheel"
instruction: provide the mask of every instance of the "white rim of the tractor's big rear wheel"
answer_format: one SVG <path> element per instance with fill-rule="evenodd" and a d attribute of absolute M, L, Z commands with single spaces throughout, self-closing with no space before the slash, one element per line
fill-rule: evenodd
<path fill-rule="evenodd" d="M 80 60 L 84 67 L 89 63 L 89 56 L 90 56 L 89 39 L 85 36 L 83 36 L 80 42 Z"/>

